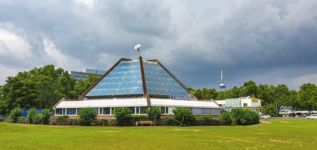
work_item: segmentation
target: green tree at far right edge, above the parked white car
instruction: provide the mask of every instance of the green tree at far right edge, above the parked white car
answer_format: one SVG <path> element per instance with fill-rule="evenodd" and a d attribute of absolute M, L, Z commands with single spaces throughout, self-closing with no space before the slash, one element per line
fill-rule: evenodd
<path fill-rule="evenodd" d="M 301 105 L 301 108 L 310 111 L 316 109 L 317 107 L 317 87 L 315 84 L 303 84 L 298 91 L 298 103 Z"/>

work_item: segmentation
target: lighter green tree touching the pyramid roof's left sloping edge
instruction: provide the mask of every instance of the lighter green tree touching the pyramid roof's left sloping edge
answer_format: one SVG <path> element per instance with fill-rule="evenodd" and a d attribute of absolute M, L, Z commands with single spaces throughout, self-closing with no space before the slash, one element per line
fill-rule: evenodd
<path fill-rule="evenodd" d="M 74 87 L 75 98 L 79 98 L 85 91 L 90 88 L 100 77 L 89 73 L 87 80 L 79 79 Z"/>

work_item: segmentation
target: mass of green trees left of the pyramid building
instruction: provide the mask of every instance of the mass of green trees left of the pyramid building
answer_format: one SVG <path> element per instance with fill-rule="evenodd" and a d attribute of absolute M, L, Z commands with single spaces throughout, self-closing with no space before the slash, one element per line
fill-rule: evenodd
<path fill-rule="evenodd" d="M 0 86 L 0 114 L 8 114 L 14 108 L 52 108 L 61 98 L 77 99 L 99 79 L 89 74 L 88 80 L 78 80 L 62 68 L 54 65 L 33 68 L 7 77 Z"/>

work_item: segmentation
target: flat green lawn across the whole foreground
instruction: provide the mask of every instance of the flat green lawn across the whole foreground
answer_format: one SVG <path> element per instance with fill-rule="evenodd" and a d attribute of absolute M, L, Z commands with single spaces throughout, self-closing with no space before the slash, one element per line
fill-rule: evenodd
<path fill-rule="evenodd" d="M 0 149 L 316 149 L 317 120 L 255 126 L 79 127 L 0 122 Z"/>

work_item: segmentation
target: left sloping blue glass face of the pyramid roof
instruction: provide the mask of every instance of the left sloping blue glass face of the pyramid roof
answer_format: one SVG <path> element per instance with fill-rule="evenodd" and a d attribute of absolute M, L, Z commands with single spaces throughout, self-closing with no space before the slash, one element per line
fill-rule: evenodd
<path fill-rule="evenodd" d="M 139 60 L 120 62 L 86 96 L 143 94 Z"/>

